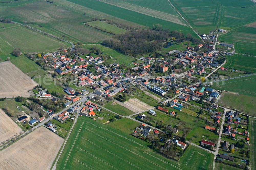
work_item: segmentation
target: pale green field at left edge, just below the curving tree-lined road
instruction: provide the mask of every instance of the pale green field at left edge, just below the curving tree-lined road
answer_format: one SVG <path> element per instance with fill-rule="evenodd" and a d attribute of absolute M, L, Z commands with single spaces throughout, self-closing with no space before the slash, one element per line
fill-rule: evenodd
<path fill-rule="evenodd" d="M 0 29 L 0 37 L 0 40 L 2 40 L 0 41 L 1 44 L 5 42 L 5 46 L 10 46 L 5 49 L 5 53 L 7 54 L 10 54 L 13 48 L 20 48 L 20 51 L 23 53 L 41 53 L 56 50 L 61 46 L 70 46 L 68 43 L 61 42 L 22 26 Z"/>

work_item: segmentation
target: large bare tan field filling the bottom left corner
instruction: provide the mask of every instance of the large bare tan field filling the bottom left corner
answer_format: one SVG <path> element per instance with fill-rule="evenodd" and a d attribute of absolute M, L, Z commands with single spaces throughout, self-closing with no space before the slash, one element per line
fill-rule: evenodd
<path fill-rule="evenodd" d="M 3 169 L 50 169 L 63 139 L 39 127 L 0 152 Z"/>

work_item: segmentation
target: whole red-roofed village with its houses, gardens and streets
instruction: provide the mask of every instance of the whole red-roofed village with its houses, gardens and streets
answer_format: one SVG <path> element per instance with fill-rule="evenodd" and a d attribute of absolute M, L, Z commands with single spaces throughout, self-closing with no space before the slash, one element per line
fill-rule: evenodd
<path fill-rule="evenodd" d="M 214 41 L 214 37 L 211 39 Z M 205 78 L 219 79 L 212 75 L 218 68 L 227 70 L 221 67 L 222 54 L 213 49 L 212 45 L 199 44 L 185 51 L 155 53 L 128 63 L 130 68 L 102 54 L 77 53 L 73 58 L 68 57 L 67 50 L 43 54 L 38 62 L 51 71 L 54 78 L 72 79 L 60 84 L 65 95 L 50 93 L 42 86 L 35 87 L 34 102 L 47 98 L 54 103 L 61 102 L 60 107 L 41 108 L 43 113 L 36 117 L 24 113 L 17 120 L 33 127 L 48 118 L 50 121 L 43 122 L 44 126 L 65 138 L 68 131 L 65 127 L 71 127 L 78 114 L 101 123 L 128 117 L 140 122 L 132 135 L 153 143 L 154 149 L 166 156 L 180 157 L 187 145 L 195 143 L 216 152 L 216 161 L 238 164 L 240 157 L 229 153 L 242 152 L 248 157 L 248 118 L 218 107 L 221 91 L 204 82 Z M 107 107 L 114 104 L 117 106 Z M 116 113 L 120 105 L 127 108 L 128 113 Z M 60 108 L 62 112 L 56 114 Z M 188 123 L 183 119 L 186 114 L 192 115 L 194 122 L 200 122 L 200 127 L 206 130 L 204 134 L 209 133 L 209 136 L 188 135 L 191 129 L 182 127 Z M 161 115 L 171 116 L 173 123 L 164 123 Z M 160 141 L 165 144 L 160 145 Z M 170 152 L 169 148 L 175 148 L 175 152 Z M 247 159 L 243 161 L 248 163 Z"/>

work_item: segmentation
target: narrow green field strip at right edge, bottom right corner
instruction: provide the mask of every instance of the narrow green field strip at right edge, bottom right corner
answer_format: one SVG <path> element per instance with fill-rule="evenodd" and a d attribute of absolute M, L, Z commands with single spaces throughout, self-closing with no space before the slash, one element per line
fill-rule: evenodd
<path fill-rule="evenodd" d="M 254 144 L 254 141 L 256 140 L 256 133 L 255 133 L 255 129 L 256 129 L 256 119 L 255 118 L 252 118 L 250 117 L 249 118 L 249 133 L 251 134 L 250 135 L 250 150 L 251 150 L 251 157 L 250 157 L 250 160 L 251 160 L 251 167 L 252 167 L 252 170 L 255 170 L 256 169 L 256 163 L 255 163 L 255 154 L 256 154 L 256 147 L 255 147 L 255 144 Z"/>

